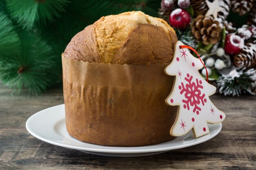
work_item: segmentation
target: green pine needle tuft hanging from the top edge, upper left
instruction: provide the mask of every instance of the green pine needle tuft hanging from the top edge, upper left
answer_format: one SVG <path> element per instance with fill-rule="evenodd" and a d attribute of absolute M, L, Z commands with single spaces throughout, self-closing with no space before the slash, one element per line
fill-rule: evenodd
<path fill-rule="evenodd" d="M 26 29 L 53 22 L 65 12 L 68 0 L 6 0 L 11 17 Z"/>

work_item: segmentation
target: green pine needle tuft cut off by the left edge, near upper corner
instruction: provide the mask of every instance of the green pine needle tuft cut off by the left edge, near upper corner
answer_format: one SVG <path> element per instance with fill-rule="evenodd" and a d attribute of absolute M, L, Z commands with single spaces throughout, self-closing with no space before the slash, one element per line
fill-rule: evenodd
<path fill-rule="evenodd" d="M 20 54 L 20 38 L 4 13 L 0 12 L 0 58 Z"/>

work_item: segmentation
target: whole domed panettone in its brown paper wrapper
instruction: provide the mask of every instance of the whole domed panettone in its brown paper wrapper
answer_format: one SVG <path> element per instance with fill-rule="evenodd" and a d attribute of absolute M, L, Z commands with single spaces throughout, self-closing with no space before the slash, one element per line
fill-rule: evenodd
<path fill-rule="evenodd" d="M 172 140 L 168 106 L 177 36 L 140 11 L 109 15 L 77 33 L 62 55 L 66 128 L 81 141 L 141 146 Z"/>

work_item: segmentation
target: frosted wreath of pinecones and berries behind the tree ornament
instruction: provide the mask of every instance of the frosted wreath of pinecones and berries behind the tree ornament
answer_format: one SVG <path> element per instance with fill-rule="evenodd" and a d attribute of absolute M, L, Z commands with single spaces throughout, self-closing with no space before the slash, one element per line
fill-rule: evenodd
<path fill-rule="evenodd" d="M 190 4 L 190 7 L 184 8 L 191 16 L 190 29 L 177 28 L 175 31 L 178 40 L 193 46 L 200 53 L 201 59 L 207 66 L 207 70 L 205 68 L 201 70 L 201 75 L 204 78 L 207 77 L 208 71 L 211 83 L 216 84 L 219 89 L 222 87 L 221 82 L 227 83 L 227 79 L 223 77 L 229 76 L 232 71 L 236 70 L 243 75 L 250 68 L 256 68 L 255 0 L 232 0 L 232 3 L 230 0 L 190 0 Z M 178 5 L 179 3 L 174 1 L 173 7 L 165 13 L 159 13 L 159 16 L 167 20 L 168 13 L 179 8 Z M 162 10 L 162 8 L 159 9 L 159 11 Z M 241 68 L 243 69 L 241 70 Z M 221 94 L 250 93 L 246 90 L 238 93 L 237 89 L 253 87 L 255 81 L 251 80 L 236 79 L 236 81 L 240 81 L 240 83 L 234 83 L 236 88 L 229 88 L 228 93 Z M 233 85 L 229 87 L 233 87 Z M 223 89 L 221 91 L 223 92 Z M 255 92 L 256 88 L 252 91 Z M 255 93 L 250 94 L 254 95 Z"/>

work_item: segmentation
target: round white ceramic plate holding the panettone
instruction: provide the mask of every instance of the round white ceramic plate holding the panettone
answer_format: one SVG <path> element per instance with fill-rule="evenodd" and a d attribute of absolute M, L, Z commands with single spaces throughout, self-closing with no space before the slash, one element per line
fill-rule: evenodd
<path fill-rule="evenodd" d="M 64 104 L 50 107 L 35 113 L 26 123 L 26 128 L 31 135 L 49 144 L 76 149 L 94 155 L 112 157 L 138 157 L 155 155 L 168 152 L 174 149 L 185 148 L 200 144 L 215 137 L 221 130 L 222 124 L 208 124 L 210 134 L 194 138 L 192 132 L 187 135 L 177 137 L 173 141 L 164 142 L 157 145 L 137 146 L 137 147 L 112 147 L 88 144 L 71 137 L 65 126 Z"/>

